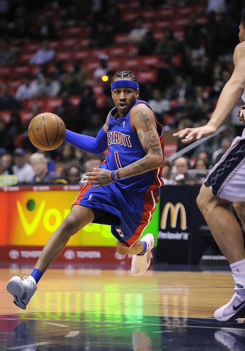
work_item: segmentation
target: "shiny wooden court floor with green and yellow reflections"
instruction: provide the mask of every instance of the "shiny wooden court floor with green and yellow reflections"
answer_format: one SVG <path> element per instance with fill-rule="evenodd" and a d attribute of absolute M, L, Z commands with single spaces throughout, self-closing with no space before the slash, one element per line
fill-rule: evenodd
<path fill-rule="evenodd" d="M 6 283 L 31 268 L 0 268 L 0 350 L 245 350 L 245 319 L 212 317 L 233 293 L 230 272 L 153 265 L 133 277 L 129 269 L 49 269 L 22 310 Z"/>

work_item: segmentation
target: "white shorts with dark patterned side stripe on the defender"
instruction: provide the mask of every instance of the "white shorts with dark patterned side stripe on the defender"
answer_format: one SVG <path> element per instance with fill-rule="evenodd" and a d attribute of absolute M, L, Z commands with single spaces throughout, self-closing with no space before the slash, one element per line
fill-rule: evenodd
<path fill-rule="evenodd" d="M 204 184 L 221 199 L 245 201 L 245 128 L 210 170 Z"/>

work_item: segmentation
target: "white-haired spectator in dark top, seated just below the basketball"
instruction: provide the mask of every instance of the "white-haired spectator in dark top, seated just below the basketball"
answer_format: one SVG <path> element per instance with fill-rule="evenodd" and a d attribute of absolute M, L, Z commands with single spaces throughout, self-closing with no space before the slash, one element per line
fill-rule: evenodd
<path fill-rule="evenodd" d="M 29 157 L 34 175 L 29 183 L 32 184 L 53 184 L 58 178 L 54 171 L 49 171 L 48 161 L 43 153 L 35 152 Z"/>

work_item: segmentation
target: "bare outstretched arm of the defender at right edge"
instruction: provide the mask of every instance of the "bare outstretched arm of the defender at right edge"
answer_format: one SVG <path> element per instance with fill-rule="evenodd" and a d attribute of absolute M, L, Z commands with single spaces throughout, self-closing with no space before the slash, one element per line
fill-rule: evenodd
<path fill-rule="evenodd" d="M 233 73 L 224 85 L 208 123 L 201 127 L 185 128 L 173 134 L 183 138 L 183 143 L 187 144 L 195 139 L 201 139 L 215 133 L 237 104 L 245 88 L 245 42 L 239 43 L 235 47 L 233 61 Z"/>

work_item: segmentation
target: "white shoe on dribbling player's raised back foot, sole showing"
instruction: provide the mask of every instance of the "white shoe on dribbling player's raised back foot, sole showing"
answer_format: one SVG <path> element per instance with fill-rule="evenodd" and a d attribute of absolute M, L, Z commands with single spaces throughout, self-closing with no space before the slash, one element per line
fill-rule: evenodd
<path fill-rule="evenodd" d="M 133 255 L 132 263 L 131 263 L 131 273 L 133 275 L 141 275 L 143 274 L 150 266 L 151 263 L 151 250 L 155 245 L 155 237 L 153 234 L 148 233 L 141 241 L 145 241 L 147 244 L 147 250 L 143 255 Z"/>

